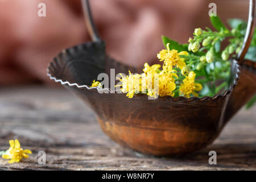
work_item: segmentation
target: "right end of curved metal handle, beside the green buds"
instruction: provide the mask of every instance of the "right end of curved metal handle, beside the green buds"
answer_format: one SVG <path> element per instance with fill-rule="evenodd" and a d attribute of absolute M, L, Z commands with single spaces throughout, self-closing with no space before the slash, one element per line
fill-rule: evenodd
<path fill-rule="evenodd" d="M 251 39 L 253 39 L 254 13 L 255 13 L 255 0 L 250 0 L 249 16 L 248 16 L 245 39 L 243 39 L 243 46 L 241 48 L 241 51 L 237 55 L 237 60 L 238 60 L 238 63 L 240 64 L 243 62 L 243 58 L 245 57 L 246 52 L 250 47 Z"/>

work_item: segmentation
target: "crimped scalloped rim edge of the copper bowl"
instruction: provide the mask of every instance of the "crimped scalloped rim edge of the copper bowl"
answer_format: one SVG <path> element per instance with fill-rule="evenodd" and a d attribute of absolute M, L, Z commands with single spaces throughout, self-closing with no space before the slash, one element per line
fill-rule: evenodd
<path fill-rule="evenodd" d="M 71 47 L 69 49 L 72 49 L 72 48 L 76 48 L 77 46 L 75 47 Z M 64 49 L 63 51 L 61 51 L 59 53 L 58 56 L 55 56 L 53 57 L 52 61 L 49 63 L 48 65 L 48 68 L 47 68 L 47 76 L 49 76 L 49 78 L 51 80 L 54 80 L 55 82 L 60 82 L 61 85 L 68 85 L 68 86 L 76 86 L 77 88 L 81 89 L 81 88 L 86 88 L 88 90 L 94 90 L 94 89 L 97 89 L 98 91 L 105 91 L 105 90 L 108 90 L 108 92 L 111 92 L 111 90 L 109 88 L 99 88 L 99 87 L 90 87 L 90 86 L 87 86 L 87 85 L 79 85 L 77 83 L 70 83 L 69 81 L 63 81 L 61 79 L 57 79 L 56 77 L 52 76 L 51 73 L 49 73 L 49 68 L 54 65 L 53 63 L 53 60 L 57 57 L 60 56 L 60 54 L 62 54 L 64 51 L 66 51 L 67 49 Z M 236 61 L 236 60 L 234 60 Z M 51 65 L 52 63 L 52 65 Z M 216 100 L 217 98 L 224 98 L 226 97 L 226 95 L 230 94 L 232 92 L 232 90 L 234 89 L 234 86 L 237 85 L 237 82 L 240 78 L 240 73 L 241 73 L 241 65 L 238 64 L 238 62 L 236 61 L 236 69 L 237 69 L 237 73 L 236 73 L 236 78 L 234 79 L 233 83 L 230 85 L 229 89 L 228 90 L 225 90 L 225 92 L 223 94 L 216 94 L 215 96 L 213 97 L 209 97 L 209 96 L 204 96 L 204 97 L 183 97 L 183 96 L 178 96 L 178 97 L 172 97 L 172 96 L 164 96 L 164 97 L 159 97 L 159 98 L 162 98 L 162 99 L 166 99 L 166 98 L 171 98 L 172 100 L 174 101 L 179 101 L 179 100 L 184 100 L 184 101 L 193 101 L 193 100 L 197 100 L 197 101 L 205 101 L 205 100 Z M 100 93 L 99 93 L 100 94 Z M 101 94 L 104 94 L 104 93 L 101 93 Z M 118 93 L 117 93 L 118 94 Z M 122 94 L 125 94 L 125 93 L 122 93 Z M 144 96 L 145 94 L 137 94 L 137 95 L 134 95 L 134 97 L 139 97 L 139 96 Z"/>

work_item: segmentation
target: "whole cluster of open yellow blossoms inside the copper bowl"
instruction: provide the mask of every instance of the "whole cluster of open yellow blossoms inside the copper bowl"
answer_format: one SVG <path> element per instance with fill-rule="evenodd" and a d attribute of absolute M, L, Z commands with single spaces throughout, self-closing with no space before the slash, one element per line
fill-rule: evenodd
<path fill-rule="evenodd" d="M 167 49 L 163 49 L 157 55 L 160 61 L 163 61 L 162 70 L 160 64 L 154 64 L 150 67 L 147 63 L 144 64 L 143 73 L 121 75 L 119 80 L 122 86 L 120 89 L 122 93 L 127 93 L 126 96 L 133 98 L 134 94 L 144 93 L 151 97 L 156 96 L 175 96 L 174 91 L 177 89 L 177 94 L 181 96 L 190 97 L 198 96 L 195 91 L 202 89 L 201 84 L 195 83 L 196 74 L 190 72 L 186 67 L 185 59 L 181 55 L 188 55 L 188 52 L 178 52 L 175 49 L 170 50 L 170 44 L 166 45 Z M 182 83 L 179 83 L 176 69 L 180 69 L 180 73 L 185 76 Z M 181 81 L 180 81 L 181 82 Z M 101 86 L 100 82 L 93 80 L 92 86 Z"/>

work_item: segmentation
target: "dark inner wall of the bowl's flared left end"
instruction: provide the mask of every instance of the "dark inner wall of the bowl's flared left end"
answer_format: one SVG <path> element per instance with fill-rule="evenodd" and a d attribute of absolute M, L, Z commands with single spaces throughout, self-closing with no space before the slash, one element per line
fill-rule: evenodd
<path fill-rule="evenodd" d="M 50 63 L 48 73 L 63 82 L 90 86 L 100 73 L 110 75 L 110 68 L 115 68 L 116 74 L 137 71 L 106 55 L 104 42 L 89 42 L 60 52 Z"/>

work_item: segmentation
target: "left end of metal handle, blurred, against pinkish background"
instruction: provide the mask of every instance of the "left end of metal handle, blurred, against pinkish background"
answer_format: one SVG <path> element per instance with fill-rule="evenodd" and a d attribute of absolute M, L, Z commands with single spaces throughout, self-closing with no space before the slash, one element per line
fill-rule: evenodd
<path fill-rule="evenodd" d="M 89 0 L 81 0 L 81 2 L 82 11 L 84 11 L 86 27 L 88 28 L 90 37 L 92 38 L 93 42 L 99 42 L 101 39 L 100 36 L 98 36 L 98 31 L 93 21 Z"/>

